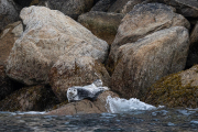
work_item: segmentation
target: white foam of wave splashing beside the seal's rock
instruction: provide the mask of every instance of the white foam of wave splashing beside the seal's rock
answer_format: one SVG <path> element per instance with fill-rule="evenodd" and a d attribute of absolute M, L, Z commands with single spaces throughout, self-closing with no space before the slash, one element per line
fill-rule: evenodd
<path fill-rule="evenodd" d="M 134 110 L 156 109 L 156 107 L 142 102 L 135 98 L 131 98 L 127 100 L 122 98 L 112 98 L 111 96 L 107 97 L 106 108 L 108 112 L 111 112 L 111 113 L 129 112 L 129 111 L 134 111 Z"/>

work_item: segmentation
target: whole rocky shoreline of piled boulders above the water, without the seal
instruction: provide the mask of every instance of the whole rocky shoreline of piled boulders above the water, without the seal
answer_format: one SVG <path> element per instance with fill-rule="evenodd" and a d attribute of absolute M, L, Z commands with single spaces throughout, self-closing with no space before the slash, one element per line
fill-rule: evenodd
<path fill-rule="evenodd" d="M 0 0 L 0 111 L 107 112 L 106 98 L 198 106 L 198 0 Z M 101 79 L 95 101 L 72 86 Z"/>

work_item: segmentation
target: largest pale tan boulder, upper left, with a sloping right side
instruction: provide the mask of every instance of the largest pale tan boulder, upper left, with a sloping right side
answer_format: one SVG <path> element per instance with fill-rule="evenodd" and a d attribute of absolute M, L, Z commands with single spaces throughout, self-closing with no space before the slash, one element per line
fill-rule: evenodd
<path fill-rule="evenodd" d="M 20 16 L 25 31 L 8 58 L 9 77 L 29 86 L 48 84 L 51 67 L 64 54 L 91 56 L 105 62 L 107 42 L 59 11 L 32 6 L 23 8 Z"/>

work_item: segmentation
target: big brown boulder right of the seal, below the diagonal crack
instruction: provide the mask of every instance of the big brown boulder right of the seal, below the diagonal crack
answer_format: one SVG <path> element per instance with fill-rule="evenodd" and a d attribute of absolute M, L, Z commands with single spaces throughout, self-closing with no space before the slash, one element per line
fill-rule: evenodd
<path fill-rule="evenodd" d="M 185 68 L 188 35 L 187 29 L 174 26 L 122 45 L 111 89 L 127 99 L 145 97 L 147 88 L 156 80 Z"/>

